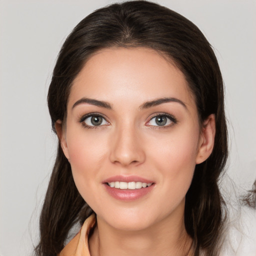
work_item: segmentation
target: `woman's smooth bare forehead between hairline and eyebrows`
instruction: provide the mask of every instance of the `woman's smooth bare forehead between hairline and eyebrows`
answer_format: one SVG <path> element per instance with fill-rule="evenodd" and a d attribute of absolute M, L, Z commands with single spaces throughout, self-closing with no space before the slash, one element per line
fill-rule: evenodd
<path fill-rule="evenodd" d="M 74 79 L 68 104 L 81 97 L 133 104 L 177 97 L 194 106 L 184 74 L 166 56 L 142 47 L 93 54 Z"/>

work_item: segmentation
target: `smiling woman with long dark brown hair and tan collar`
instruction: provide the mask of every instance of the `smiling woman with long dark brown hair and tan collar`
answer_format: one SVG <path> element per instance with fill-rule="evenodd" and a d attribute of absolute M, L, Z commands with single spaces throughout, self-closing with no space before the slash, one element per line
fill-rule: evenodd
<path fill-rule="evenodd" d="M 37 255 L 218 254 L 223 83 L 193 23 L 147 1 L 94 11 L 60 50 L 48 107 L 59 146 Z"/>

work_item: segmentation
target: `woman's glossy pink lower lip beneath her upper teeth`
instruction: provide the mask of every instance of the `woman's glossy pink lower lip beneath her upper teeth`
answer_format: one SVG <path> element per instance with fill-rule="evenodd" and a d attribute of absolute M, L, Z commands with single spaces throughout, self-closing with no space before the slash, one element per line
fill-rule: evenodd
<path fill-rule="evenodd" d="M 106 191 L 115 199 L 122 201 L 131 201 L 139 199 L 149 193 L 154 187 L 154 184 L 139 189 L 119 189 L 115 187 L 110 187 L 107 184 L 104 184 L 104 186 L 106 188 Z"/>

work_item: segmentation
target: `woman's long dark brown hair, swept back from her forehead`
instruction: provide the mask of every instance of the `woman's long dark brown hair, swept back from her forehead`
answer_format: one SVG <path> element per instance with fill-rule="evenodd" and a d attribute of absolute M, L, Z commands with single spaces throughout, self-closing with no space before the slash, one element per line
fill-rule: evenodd
<path fill-rule="evenodd" d="M 54 131 L 56 120 L 65 118 L 72 81 L 93 53 L 107 47 L 149 47 L 163 53 L 184 73 L 200 122 L 215 114 L 214 148 L 207 160 L 195 166 L 184 213 L 194 255 L 204 250 L 205 255 L 215 256 L 224 219 L 218 179 L 227 158 L 227 130 L 223 82 L 211 45 L 191 21 L 156 3 L 127 1 L 92 12 L 68 35 L 53 70 L 48 108 Z M 71 226 L 91 212 L 75 187 L 59 144 L 41 210 L 36 255 L 60 252 Z"/>

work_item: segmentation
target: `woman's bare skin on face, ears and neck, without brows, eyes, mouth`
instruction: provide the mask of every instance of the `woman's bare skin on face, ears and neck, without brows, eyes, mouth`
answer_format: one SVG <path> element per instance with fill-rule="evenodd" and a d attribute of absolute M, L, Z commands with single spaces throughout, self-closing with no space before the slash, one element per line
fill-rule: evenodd
<path fill-rule="evenodd" d="M 106 101 L 111 109 L 90 103 L 73 107 L 83 97 Z M 184 105 L 140 107 L 163 97 Z M 104 116 L 102 125 L 87 128 L 80 122 L 91 112 Z M 177 121 L 157 126 L 155 113 Z M 73 81 L 65 125 L 58 120 L 55 126 L 77 189 L 96 213 L 89 239 L 92 256 L 188 252 L 192 240 L 184 227 L 185 194 L 195 164 L 212 151 L 215 122 L 210 115 L 199 123 L 187 81 L 171 61 L 148 48 L 97 52 Z M 154 186 L 136 200 L 118 200 L 102 184 L 114 175 L 138 175 Z"/>

